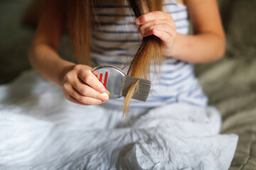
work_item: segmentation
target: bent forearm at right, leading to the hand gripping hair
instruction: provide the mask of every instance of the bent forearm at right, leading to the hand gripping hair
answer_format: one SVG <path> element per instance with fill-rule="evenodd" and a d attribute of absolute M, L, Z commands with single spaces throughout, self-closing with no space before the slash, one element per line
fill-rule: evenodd
<path fill-rule="evenodd" d="M 171 56 L 192 63 L 213 62 L 225 51 L 225 38 L 213 33 L 176 35 Z"/>

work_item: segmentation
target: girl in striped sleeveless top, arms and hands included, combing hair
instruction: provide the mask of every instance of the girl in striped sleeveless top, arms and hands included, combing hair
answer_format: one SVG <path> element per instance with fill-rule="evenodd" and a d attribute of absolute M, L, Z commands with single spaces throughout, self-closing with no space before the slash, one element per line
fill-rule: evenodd
<path fill-rule="evenodd" d="M 86 29 L 89 29 L 83 22 L 90 24 L 86 21 L 87 18 L 82 16 L 86 13 L 80 9 L 82 3 L 85 4 L 85 1 L 81 1 L 80 4 L 79 1 L 69 4 L 68 8 L 74 6 L 71 11 L 65 9 L 63 3 L 49 2 L 39 23 L 29 55 L 33 68 L 45 79 L 62 87 L 69 101 L 82 105 L 98 105 L 105 103 L 109 98 L 104 86 L 92 74 L 90 65 L 68 62 L 58 55 L 58 45 L 67 24 L 73 25 L 73 28 L 69 27 L 69 32 L 73 36 L 75 49 L 87 50 L 78 57 L 87 60 L 91 55 L 94 66 L 112 64 L 121 69 L 128 68 L 124 66 L 132 61 L 142 37 L 155 35 L 161 39 L 163 55 L 167 56 L 164 66 L 161 67 L 163 72 L 159 73 L 161 82 L 156 82 L 151 89 L 158 104 L 148 102 L 147 105 L 137 102 L 137 105 L 159 106 L 174 102 L 168 100 L 173 96 L 172 99 L 175 98 L 177 102 L 187 101 L 206 106 L 206 98 L 202 97 L 203 93 L 196 79 L 193 78 L 191 73 L 193 68 L 188 62 L 211 62 L 223 56 L 225 37 L 215 0 L 179 1 L 179 4 L 176 4 L 176 1 L 164 1 L 163 11 L 153 11 L 139 16 L 136 23 L 129 6 L 115 7 L 112 1 L 93 1 L 98 21 L 92 21 L 95 26 L 92 28 L 91 54 L 86 42 L 81 38 L 87 33 Z M 186 35 L 188 34 L 187 8 L 196 35 Z M 80 13 L 81 16 L 74 13 Z M 75 24 L 77 26 L 74 26 Z M 79 26 L 83 30 L 78 28 Z M 75 36 L 81 38 L 80 42 L 75 42 L 79 41 Z M 77 55 L 81 55 L 78 54 L 80 51 L 77 51 Z M 178 69 L 179 67 L 182 68 Z M 175 69 L 178 70 L 174 72 Z M 154 81 L 154 75 L 151 75 L 151 79 Z M 175 84 L 179 79 L 184 81 Z M 166 90 L 161 91 L 163 88 Z M 110 101 L 108 104 L 120 106 L 122 101 Z"/>

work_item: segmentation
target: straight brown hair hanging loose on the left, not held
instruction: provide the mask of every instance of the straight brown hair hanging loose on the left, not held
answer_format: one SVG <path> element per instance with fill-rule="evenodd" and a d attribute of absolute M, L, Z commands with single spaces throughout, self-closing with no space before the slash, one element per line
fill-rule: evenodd
<path fill-rule="evenodd" d="M 91 65 L 92 0 L 68 0 L 68 33 L 80 64 Z"/>

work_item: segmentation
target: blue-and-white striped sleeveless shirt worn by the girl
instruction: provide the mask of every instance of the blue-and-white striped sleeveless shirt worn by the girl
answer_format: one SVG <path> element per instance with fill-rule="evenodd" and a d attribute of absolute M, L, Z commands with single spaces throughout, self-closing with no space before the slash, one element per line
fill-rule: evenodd
<path fill-rule="evenodd" d="M 171 13 L 177 33 L 188 34 L 188 11 L 174 0 L 163 2 L 163 11 Z M 142 35 L 138 33 L 134 13 L 124 3 L 114 0 L 95 1 L 95 26 L 92 29 L 92 61 L 95 65 L 113 65 L 127 72 L 138 50 Z M 97 20 L 97 22 L 96 22 Z M 171 103 L 188 103 L 205 107 L 208 98 L 194 76 L 193 65 L 166 56 L 160 72 L 150 72 L 151 93 L 146 102 L 131 100 L 130 108 L 152 108 Z M 105 105 L 121 108 L 124 98 L 110 99 Z"/>

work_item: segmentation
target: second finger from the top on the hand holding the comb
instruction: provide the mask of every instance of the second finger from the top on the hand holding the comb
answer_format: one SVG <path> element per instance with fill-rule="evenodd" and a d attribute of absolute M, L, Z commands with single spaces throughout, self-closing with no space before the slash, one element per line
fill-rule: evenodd
<path fill-rule="evenodd" d="M 87 86 L 84 82 L 82 82 L 80 79 L 76 79 L 73 83 L 73 87 L 82 94 L 82 96 L 87 96 L 91 98 L 97 98 L 101 101 L 107 101 L 108 98 L 105 94 L 101 94 L 99 91 L 96 91 L 95 89 L 92 89 L 92 87 Z"/>

